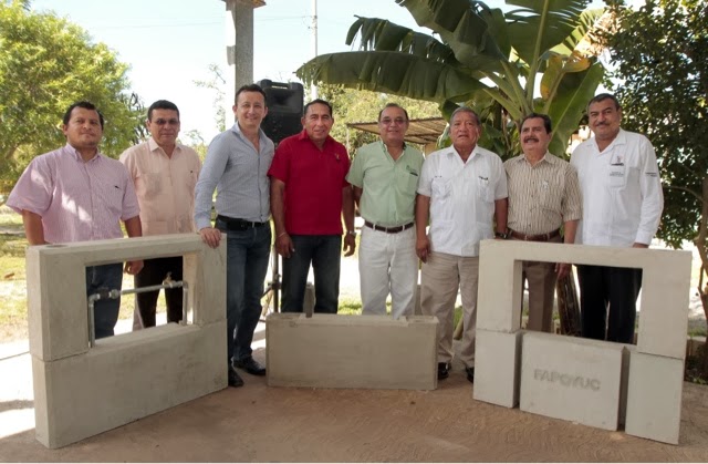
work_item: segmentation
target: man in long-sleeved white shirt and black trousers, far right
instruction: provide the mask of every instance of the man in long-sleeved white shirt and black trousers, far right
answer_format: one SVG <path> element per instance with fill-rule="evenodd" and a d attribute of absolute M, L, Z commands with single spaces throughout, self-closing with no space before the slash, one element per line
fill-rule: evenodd
<path fill-rule="evenodd" d="M 654 147 L 620 127 L 622 107 L 614 95 L 593 97 L 587 116 L 594 136 L 571 157 L 583 193 L 575 243 L 647 248 L 664 208 Z M 633 343 L 642 269 L 577 266 L 577 277 L 582 336 Z"/>

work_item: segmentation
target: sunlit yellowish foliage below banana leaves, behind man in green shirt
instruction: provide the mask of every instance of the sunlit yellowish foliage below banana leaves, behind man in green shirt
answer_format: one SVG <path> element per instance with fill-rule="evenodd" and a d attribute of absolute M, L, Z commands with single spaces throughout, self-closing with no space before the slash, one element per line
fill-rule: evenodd
<path fill-rule="evenodd" d="M 320 97 L 332 103 L 335 124 L 331 135 L 344 143 L 353 155 L 355 151 L 378 137 L 375 134 L 350 130 L 346 124 L 363 123 L 378 120 L 378 112 L 387 103 L 398 103 L 408 112 L 408 117 L 439 117 L 440 112 L 435 103 L 413 100 L 405 96 L 387 95 L 379 92 L 356 91 L 342 85 L 324 84 L 319 87 Z"/>

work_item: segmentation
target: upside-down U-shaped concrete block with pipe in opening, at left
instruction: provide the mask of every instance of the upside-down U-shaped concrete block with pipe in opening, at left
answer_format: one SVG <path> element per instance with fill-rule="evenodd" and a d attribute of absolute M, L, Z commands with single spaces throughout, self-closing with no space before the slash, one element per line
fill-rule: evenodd
<path fill-rule="evenodd" d="M 196 234 L 82 241 L 29 247 L 28 308 L 30 352 L 54 361 L 88 350 L 85 268 L 129 259 L 185 255 L 185 281 L 196 323 L 225 318 L 226 240 L 217 249 Z M 201 264 L 199 264 L 201 262 Z"/>

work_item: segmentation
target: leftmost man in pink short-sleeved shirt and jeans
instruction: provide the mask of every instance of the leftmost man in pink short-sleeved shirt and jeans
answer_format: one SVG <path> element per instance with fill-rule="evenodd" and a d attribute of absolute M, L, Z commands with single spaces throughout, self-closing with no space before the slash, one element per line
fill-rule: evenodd
<path fill-rule="evenodd" d="M 66 145 L 32 159 L 8 197 L 8 206 L 22 215 L 29 244 L 122 238 L 119 221 L 129 237 L 140 236 L 139 208 L 133 183 L 116 159 L 98 153 L 103 115 L 95 105 L 77 102 L 64 114 Z M 136 275 L 142 260 L 128 261 Z M 121 289 L 121 264 L 86 268 L 86 296 Z M 94 306 L 95 337 L 113 336 L 121 300 L 98 300 Z"/>

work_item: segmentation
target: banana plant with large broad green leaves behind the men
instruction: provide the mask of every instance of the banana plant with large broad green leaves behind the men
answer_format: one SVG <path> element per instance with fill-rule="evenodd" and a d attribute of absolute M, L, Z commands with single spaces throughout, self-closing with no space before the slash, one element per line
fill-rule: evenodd
<path fill-rule="evenodd" d="M 440 40 L 377 18 L 358 18 L 346 43 L 360 51 L 320 55 L 298 75 L 310 82 L 386 92 L 436 102 L 449 115 L 459 103 L 483 118 L 480 144 L 517 152 L 523 115 L 548 113 L 555 131 L 551 151 L 562 154 L 594 95 L 603 68 L 584 39 L 600 11 L 589 0 L 507 0 L 503 13 L 477 0 L 396 0 Z M 541 97 L 534 97 L 537 83 Z"/>

